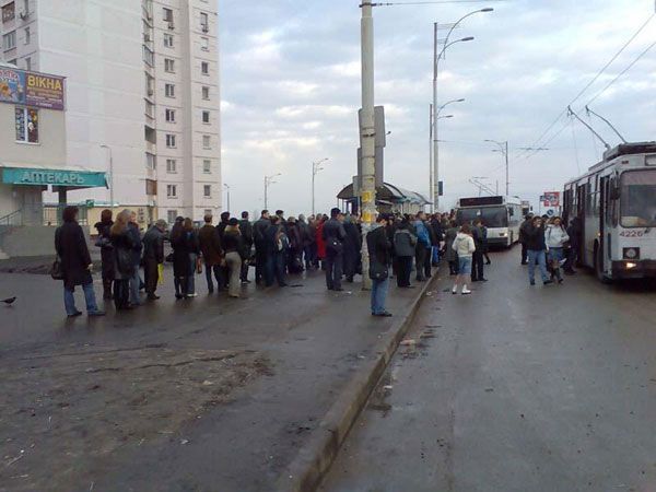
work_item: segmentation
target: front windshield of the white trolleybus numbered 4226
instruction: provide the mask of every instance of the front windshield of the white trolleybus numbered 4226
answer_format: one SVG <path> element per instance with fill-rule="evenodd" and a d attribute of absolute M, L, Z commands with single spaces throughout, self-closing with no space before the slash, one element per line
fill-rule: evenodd
<path fill-rule="evenodd" d="M 656 169 L 629 171 L 621 178 L 623 227 L 656 227 Z"/>

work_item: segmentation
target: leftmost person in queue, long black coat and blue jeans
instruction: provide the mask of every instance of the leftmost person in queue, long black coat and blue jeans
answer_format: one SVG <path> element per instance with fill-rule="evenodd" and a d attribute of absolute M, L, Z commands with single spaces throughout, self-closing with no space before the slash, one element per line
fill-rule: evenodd
<path fill-rule="evenodd" d="M 93 263 L 86 238 L 82 227 L 78 224 L 78 208 L 67 207 L 62 214 L 63 225 L 55 232 L 55 249 L 63 273 L 63 305 L 69 318 L 80 316 L 82 313 L 75 307 L 73 291 L 75 285 L 82 285 L 86 314 L 89 316 L 104 316 L 105 312 L 98 309 L 93 290 L 91 270 Z"/>

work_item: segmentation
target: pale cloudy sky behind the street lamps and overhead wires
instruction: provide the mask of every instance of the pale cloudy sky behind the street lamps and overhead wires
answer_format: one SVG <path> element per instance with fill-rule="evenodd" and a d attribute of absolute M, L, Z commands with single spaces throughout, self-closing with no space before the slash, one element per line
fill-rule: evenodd
<path fill-rule="evenodd" d="M 269 188 L 269 209 L 307 214 L 312 163 L 326 157 L 316 181 L 317 212 L 333 207 L 339 190 L 352 183 L 361 106 L 359 3 L 219 0 L 222 165 L 232 212 L 261 209 L 265 175 L 280 173 Z M 429 196 L 433 23 L 455 22 L 487 7 L 494 12 L 466 19 L 452 37 L 475 40 L 449 47 L 440 65 L 440 104 L 466 99 L 445 109 L 453 118 L 440 121 L 445 210 L 459 197 L 479 194 L 469 183 L 472 177 L 484 177 L 492 190 L 499 183 L 503 195 L 503 156 L 485 139 L 509 142 L 509 195 L 536 208 L 543 191 L 561 190 L 597 163 L 604 145 L 583 125 L 559 115 L 652 17 L 573 104 L 611 147 L 619 143 L 583 108 L 656 42 L 654 0 L 376 7 L 375 102 L 385 106 L 391 131 L 385 150 L 387 183 Z M 655 90 L 656 47 L 590 107 L 626 140 L 656 140 Z M 520 150 L 526 147 L 548 150 Z"/>

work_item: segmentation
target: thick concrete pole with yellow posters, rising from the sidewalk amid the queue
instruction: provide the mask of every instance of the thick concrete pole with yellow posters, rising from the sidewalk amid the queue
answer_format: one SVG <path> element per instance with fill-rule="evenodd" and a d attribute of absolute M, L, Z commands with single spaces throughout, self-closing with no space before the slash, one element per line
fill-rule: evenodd
<path fill-rule="evenodd" d="M 362 233 L 366 235 L 376 220 L 376 163 L 374 125 L 374 16 L 371 0 L 362 1 L 361 49 L 362 49 Z M 362 288 L 370 290 L 370 257 L 366 241 L 362 242 Z"/>

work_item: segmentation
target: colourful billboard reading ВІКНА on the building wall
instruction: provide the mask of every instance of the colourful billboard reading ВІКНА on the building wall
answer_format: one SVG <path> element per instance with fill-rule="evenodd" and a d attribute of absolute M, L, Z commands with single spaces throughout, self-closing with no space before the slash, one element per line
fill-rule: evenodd
<path fill-rule="evenodd" d="M 65 79 L 45 73 L 0 68 L 0 103 L 65 109 Z"/>

